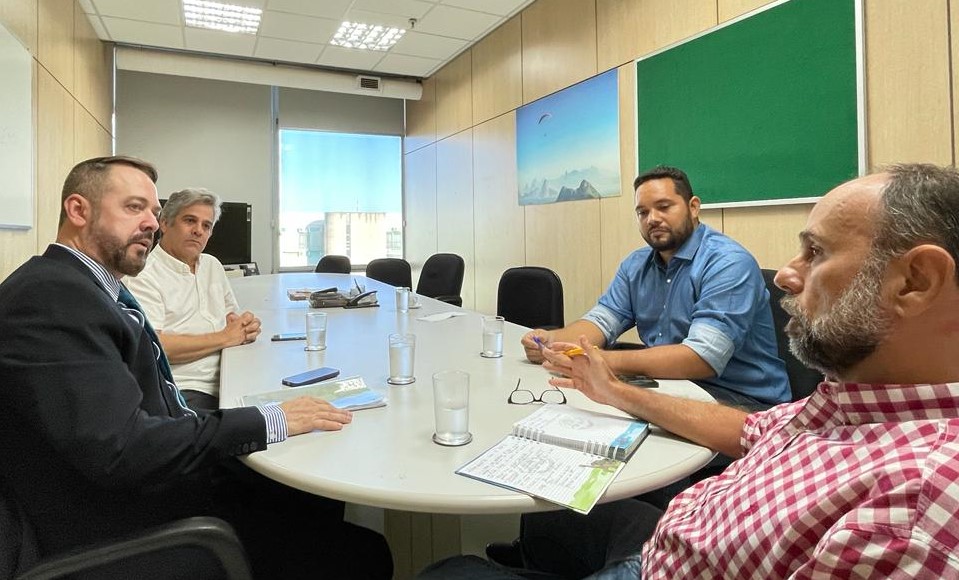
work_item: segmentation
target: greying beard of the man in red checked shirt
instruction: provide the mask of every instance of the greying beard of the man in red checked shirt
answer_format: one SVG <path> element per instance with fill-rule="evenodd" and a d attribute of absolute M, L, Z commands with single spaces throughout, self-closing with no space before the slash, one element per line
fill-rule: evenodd
<path fill-rule="evenodd" d="M 875 352 L 891 324 L 880 293 L 885 266 L 875 256 L 867 258 L 832 308 L 813 321 L 800 310 L 795 296 L 785 296 L 782 306 L 792 317 L 786 331 L 793 355 L 806 366 L 841 379 Z"/>

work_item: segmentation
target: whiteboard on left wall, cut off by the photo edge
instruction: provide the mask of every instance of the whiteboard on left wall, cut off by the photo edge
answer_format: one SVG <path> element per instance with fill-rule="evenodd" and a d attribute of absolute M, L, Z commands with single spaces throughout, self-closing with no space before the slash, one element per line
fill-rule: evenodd
<path fill-rule="evenodd" d="M 33 227 L 32 58 L 0 25 L 0 228 Z"/>

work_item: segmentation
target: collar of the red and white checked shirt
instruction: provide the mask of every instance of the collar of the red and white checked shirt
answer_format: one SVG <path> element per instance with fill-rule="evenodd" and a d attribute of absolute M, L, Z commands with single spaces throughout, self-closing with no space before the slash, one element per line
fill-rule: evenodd
<path fill-rule="evenodd" d="M 959 383 L 901 385 L 820 383 L 810 411 L 827 411 L 846 425 L 959 417 Z M 831 407 L 828 408 L 827 407 Z"/>

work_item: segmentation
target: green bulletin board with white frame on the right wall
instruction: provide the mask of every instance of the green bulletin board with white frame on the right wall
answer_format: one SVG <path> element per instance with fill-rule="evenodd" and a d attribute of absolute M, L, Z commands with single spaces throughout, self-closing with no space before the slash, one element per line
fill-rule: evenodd
<path fill-rule="evenodd" d="M 799 203 L 865 166 L 859 0 L 788 0 L 636 61 L 638 168 L 713 207 Z"/>

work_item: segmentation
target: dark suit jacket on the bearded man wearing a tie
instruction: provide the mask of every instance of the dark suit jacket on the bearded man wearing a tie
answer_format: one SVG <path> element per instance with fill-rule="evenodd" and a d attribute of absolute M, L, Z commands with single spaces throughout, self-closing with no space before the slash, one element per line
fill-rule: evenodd
<path fill-rule="evenodd" d="M 152 341 L 69 252 L 0 284 L 0 479 L 46 555 L 207 513 L 212 474 L 266 448 L 254 408 L 166 404 Z"/>

